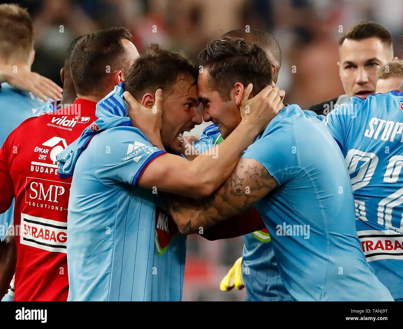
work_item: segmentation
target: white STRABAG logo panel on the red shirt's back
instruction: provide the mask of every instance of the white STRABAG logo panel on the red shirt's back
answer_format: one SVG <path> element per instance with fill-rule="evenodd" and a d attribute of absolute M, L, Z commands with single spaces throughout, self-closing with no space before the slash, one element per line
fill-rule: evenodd
<path fill-rule="evenodd" d="M 21 213 L 20 243 L 50 252 L 66 253 L 67 223 Z"/>

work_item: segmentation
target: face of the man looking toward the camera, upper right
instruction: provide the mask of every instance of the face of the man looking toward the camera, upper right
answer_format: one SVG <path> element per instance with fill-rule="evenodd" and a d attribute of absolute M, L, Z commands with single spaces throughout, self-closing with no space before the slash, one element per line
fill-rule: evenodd
<path fill-rule="evenodd" d="M 392 50 L 377 37 L 361 41 L 344 40 L 340 47 L 340 62 L 337 64 L 346 94 L 362 99 L 374 94 L 379 66 L 392 59 Z"/>

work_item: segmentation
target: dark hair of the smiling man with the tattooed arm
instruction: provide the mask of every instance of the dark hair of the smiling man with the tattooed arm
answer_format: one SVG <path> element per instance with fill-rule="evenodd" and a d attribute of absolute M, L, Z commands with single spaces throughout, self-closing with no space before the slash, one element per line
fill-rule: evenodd
<path fill-rule="evenodd" d="M 264 50 L 243 39 L 211 41 L 197 59 L 198 65 L 208 69 L 210 88 L 218 91 L 222 100 L 231 99 L 236 82 L 245 87 L 253 83 L 253 92 L 260 92 L 272 82 L 272 67 Z"/>

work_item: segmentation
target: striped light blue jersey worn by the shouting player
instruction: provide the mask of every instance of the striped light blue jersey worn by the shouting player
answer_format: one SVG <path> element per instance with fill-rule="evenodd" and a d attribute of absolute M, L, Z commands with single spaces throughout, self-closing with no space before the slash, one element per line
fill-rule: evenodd
<path fill-rule="evenodd" d="M 67 217 L 69 301 L 181 300 L 185 237 L 156 212 L 155 191 L 136 186 L 164 153 L 139 129 L 118 126 L 94 135 L 78 157 Z"/>

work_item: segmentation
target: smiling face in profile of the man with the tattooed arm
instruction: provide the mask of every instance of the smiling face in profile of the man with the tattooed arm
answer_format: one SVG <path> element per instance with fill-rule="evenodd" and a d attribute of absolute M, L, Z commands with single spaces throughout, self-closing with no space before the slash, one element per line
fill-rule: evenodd
<path fill-rule="evenodd" d="M 218 125 L 222 138 L 225 139 L 241 122 L 239 106 L 232 96 L 229 101 L 222 100 L 220 94 L 209 87 L 209 77 L 210 73 L 205 69 L 197 78 L 199 101 L 203 105 L 203 119 Z"/>

